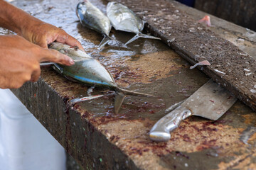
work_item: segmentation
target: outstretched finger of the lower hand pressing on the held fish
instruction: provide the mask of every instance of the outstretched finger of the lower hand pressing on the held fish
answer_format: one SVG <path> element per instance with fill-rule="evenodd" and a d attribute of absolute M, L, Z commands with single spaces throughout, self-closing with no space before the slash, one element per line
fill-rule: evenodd
<path fill-rule="evenodd" d="M 73 65 L 75 64 L 74 60 L 67 55 L 63 55 L 57 50 L 53 49 L 43 49 L 45 52 L 43 52 L 43 55 L 39 59 L 39 62 L 55 62 L 58 64 L 63 64 L 63 65 Z"/>

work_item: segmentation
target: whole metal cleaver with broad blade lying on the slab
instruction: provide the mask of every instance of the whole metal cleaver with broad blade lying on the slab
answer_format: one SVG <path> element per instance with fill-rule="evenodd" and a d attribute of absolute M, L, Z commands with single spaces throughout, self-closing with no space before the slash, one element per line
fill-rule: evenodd
<path fill-rule="evenodd" d="M 210 120 L 217 120 L 233 106 L 237 98 L 220 85 L 209 80 L 180 106 L 161 118 L 149 132 L 149 138 L 164 142 L 171 139 L 170 132 L 178 128 L 181 120 L 191 115 L 198 115 Z"/>

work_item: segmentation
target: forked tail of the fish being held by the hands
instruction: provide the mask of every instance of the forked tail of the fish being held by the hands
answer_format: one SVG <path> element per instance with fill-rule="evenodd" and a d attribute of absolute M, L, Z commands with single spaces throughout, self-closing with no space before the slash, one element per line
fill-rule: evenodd
<path fill-rule="evenodd" d="M 155 97 L 151 94 L 143 94 L 140 92 L 135 92 L 135 91 L 129 91 L 125 89 L 118 88 L 117 89 L 117 95 L 114 98 L 114 113 L 118 113 L 119 109 L 122 106 L 122 103 L 124 101 L 125 96 L 151 96 Z"/>

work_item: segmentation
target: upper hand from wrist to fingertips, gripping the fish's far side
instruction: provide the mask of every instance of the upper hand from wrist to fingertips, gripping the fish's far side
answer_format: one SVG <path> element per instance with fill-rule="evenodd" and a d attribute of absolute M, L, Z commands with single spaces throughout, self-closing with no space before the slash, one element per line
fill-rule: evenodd
<path fill-rule="evenodd" d="M 47 48 L 48 44 L 56 40 L 70 46 L 78 46 L 80 50 L 84 51 L 80 42 L 68 35 L 65 30 L 42 21 L 31 21 L 28 26 L 24 26 L 21 30 L 21 35 L 30 42 L 44 48 Z"/>

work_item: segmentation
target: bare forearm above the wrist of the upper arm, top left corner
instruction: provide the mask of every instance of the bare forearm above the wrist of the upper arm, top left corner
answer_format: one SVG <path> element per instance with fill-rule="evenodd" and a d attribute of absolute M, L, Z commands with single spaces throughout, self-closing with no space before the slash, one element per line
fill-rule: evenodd
<path fill-rule="evenodd" d="M 42 21 L 34 18 L 20 8 L 0 0 L 0 26 L 14 31 L 18 35 L 22 35 L 23 30 L 28 26 L 43 24 Z"/>

